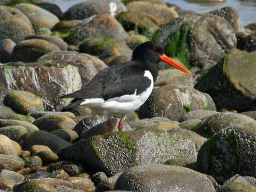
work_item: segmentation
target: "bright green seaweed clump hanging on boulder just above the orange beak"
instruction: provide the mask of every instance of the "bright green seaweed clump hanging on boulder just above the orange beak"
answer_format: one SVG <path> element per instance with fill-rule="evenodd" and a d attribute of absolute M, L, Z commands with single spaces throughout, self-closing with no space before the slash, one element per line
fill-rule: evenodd
<path fill-rule="evenodd" d="M 181 30 L 177 30 L 171 35 L 169 41 L 164 47 L 164 52 L 169 57 L 177 58 L 182 62 L 188 69 L 191 69 L 192 66 L 189 62 L 189 53 L 185 49 L 187 36 L 190 33 L 189 24 L 184 23 Z"/>

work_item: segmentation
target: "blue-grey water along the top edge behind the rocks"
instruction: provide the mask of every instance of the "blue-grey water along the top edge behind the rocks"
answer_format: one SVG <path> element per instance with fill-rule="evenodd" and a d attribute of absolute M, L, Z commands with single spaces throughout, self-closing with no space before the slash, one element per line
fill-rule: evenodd
<path fill-rule="evenodd" d="M 54 3 L 66 11 L 74 4 L 85 0 L 54 0 Z M 165 2 L 180 6 L 183 10 L 192 10 L 199 13 L 206 13 L 224 6 L 235 7 L 238 11 L 243 26 L 256 22 L 256 0 L 227 0 L 218 3 L 193 3 L 185 0 L 165 0 Z"/>

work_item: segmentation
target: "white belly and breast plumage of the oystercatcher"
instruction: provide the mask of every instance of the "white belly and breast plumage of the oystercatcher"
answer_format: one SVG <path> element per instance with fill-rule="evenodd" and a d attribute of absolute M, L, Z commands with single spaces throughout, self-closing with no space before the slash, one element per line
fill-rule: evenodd
<path fill-rule="evenodd" d="M 92 109 L 95 115 L 127 115 L 138 109 L 149 97 L 153 90 L 153 76 L 149 71 L 145 71 L 145 77 L 151 80 L 150 86 L 140 94 L 136 94 L 137 90 L 131 95 L 123 95 L 104 101 L 100 98 L 86 99 L 80 105 L 85 105 Z"/>

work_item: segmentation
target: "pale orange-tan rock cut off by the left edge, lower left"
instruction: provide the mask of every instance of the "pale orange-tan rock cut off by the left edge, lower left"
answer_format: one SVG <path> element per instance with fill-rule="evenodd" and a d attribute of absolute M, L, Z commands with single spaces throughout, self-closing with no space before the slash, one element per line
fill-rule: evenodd
<path fill-rule="evenodd" d="M 0 154 L 4 155 L 21 155 L 21 147 L 15 141 L 0 134 Z"/>

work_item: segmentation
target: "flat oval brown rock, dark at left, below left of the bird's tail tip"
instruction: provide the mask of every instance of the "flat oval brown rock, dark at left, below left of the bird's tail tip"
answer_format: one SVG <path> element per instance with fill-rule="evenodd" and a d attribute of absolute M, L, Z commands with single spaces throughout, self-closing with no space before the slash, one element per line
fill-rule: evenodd
<path fill-rule="evenodd" d="M 50 132 L 57 129 L 72 130 L 76 123 L 65 115 L 46 115 L 36 119 L 33 124 L 40 130 Z"/>

